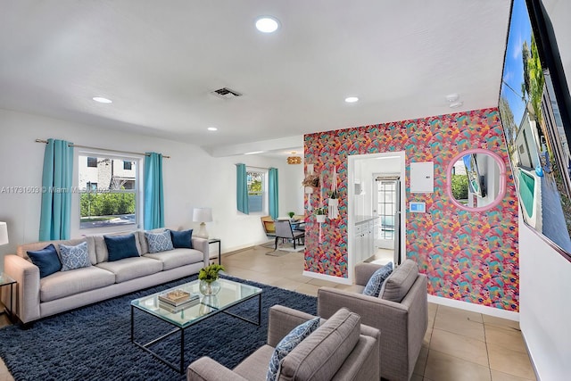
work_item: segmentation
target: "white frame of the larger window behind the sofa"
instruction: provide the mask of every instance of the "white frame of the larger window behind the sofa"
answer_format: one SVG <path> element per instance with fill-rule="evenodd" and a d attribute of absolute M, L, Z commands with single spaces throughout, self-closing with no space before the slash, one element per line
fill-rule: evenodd
<path fill-rule="evenodd" d="M 117 227 L 103 228 L 80 228 L 81 217 L 79 212 L 79 156 L 95 156 L 104 157 L 112 160 L 135 162 L 137 167 L 135 178 L 135 224 L 120 225 Z M 117 233 L 121 231 L 133 231 L 143 226 L 144 212 L 144 165 L 145 155 L 137 155 L 134 153 L 109 153 L 107 151 L 99 151 L 96 149 L 76 149 L 73 158 L 73 186 L 74 191 L 71 193 L 71 236 L 94 236 L 105 233 Z"/>

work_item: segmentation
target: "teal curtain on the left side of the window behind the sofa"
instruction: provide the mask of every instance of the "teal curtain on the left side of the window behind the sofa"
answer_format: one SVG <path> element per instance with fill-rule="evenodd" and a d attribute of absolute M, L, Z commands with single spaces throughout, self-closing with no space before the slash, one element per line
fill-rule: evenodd
<path fill-rule="evenodd" d="M 73 145 L 65 140 L 47 139 L 42 173 L 42 205 L 39 240 L 70 238 Z"/>

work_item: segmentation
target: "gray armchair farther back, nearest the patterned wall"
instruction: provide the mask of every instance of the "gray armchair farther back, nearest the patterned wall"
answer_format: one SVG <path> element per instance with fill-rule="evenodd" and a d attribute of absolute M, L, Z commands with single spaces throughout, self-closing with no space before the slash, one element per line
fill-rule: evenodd
<path fill-rule="evenodd" d="M 379 297 L 362 294 L 368 279 L 379 267 L 372 263 L 355 266 L 356 285 L 349 290 L 319 288 L 318 315 L 327 319 L 342 307 L 359 314 L 362 324 L 383 333 L 381 377 L 407 381 L 412 376 L 428 327 L 426 275 L 418 273 L 415 261 L 406 260 L 385 280 Z M 401 300 L 394 302 L 384 297 Z"/>

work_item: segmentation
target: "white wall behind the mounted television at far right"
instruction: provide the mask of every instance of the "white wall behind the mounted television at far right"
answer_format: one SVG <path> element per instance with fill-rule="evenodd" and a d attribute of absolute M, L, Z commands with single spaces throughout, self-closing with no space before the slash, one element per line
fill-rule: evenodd
<path fill-rule="evenodd" d="M 543 0 L 555 30 L 571 88 L 571 2 Z M 519 325 L 538 377 L 571 374 L 571 262 L 527 228 L 519 217 Z"/>

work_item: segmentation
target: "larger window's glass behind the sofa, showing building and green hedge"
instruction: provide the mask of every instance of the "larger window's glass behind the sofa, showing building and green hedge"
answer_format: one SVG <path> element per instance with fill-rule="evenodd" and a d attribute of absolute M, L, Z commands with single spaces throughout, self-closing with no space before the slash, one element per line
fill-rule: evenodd
<path fill-rule="evenodd" d="M 79 153 L 78 158 L 79 229 L 109 231 L 114 227 L 137 226 L 140 159 L 124 160 L 103 153 L 97 156 Z"/>

